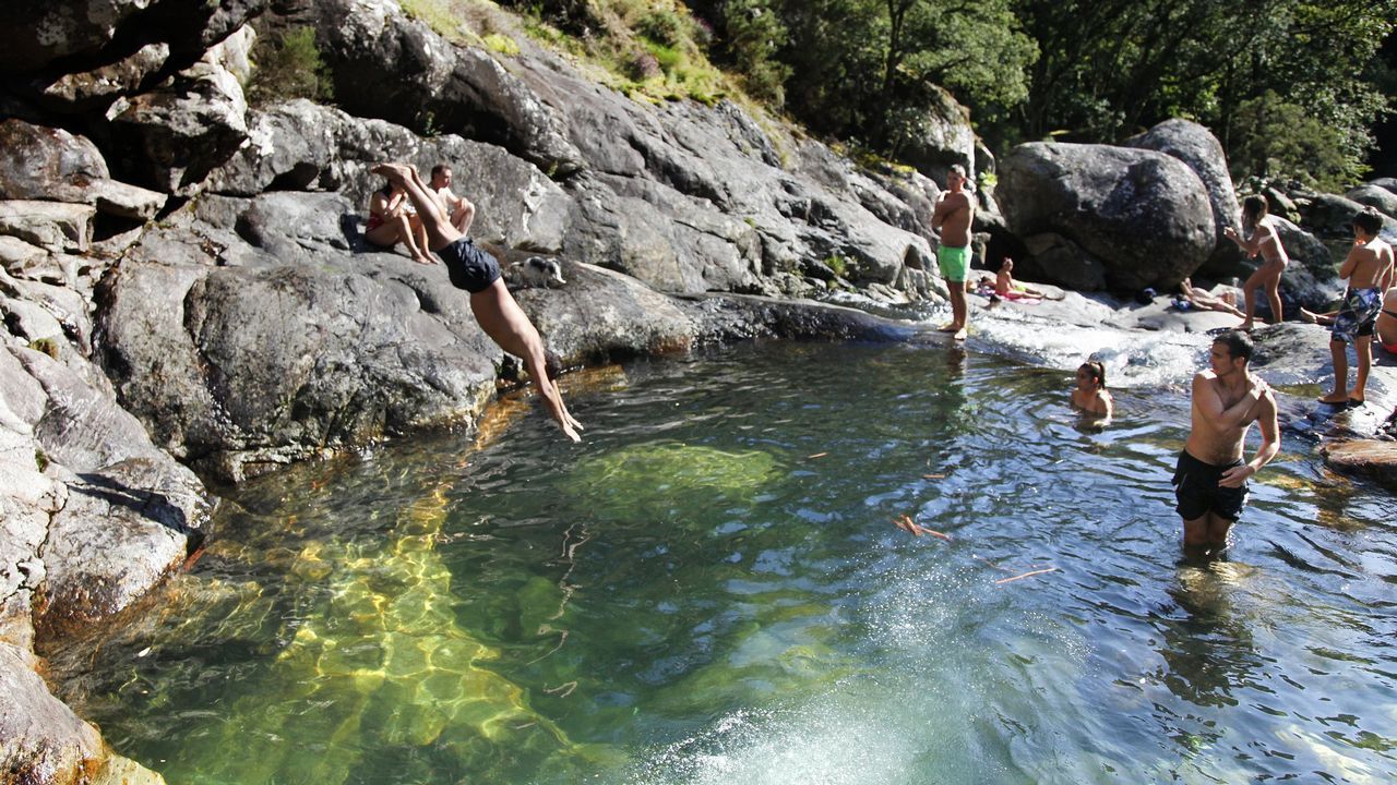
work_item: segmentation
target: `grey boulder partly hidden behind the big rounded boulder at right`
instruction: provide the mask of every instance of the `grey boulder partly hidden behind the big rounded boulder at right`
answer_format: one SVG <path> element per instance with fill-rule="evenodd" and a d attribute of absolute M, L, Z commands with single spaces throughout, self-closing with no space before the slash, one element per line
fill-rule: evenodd
<path fill-rule="evenodd" d="M 1199 268 L 1199 274 L 1224 277 L 1242 254 L 1224 235 L 1228 228 L 1241 230 L 1241 208 L 1222 142 L 1213 135 L 1213 131 L 1194 122 L 1172 119 L 1126 140 L 1125 145 L 1172 155 L 1187 163 L 1189 169 L 1203 180 L 1203 186 L 1208 190 L 1208 204 L 1213 207 L 1215 236 L 1213 253 Z"/>

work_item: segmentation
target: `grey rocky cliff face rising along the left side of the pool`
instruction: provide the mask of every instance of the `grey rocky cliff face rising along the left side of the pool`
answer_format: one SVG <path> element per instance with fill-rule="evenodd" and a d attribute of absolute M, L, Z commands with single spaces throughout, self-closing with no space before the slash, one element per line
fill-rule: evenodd
<path fill-rule="evenodd" d="M 159 779 L 109 756 L 31 668 L 197 548 L 217 499 L 196 471 L 237 480 L 469 425 L 511 374 L 443 268 L 365 244 L 374 162 L 451 165 L 476 242 L 506 263 L 560 260 L 566 288 L 518 293 L 559 367 L 736 337 L 907 332 L 746 295 L 937 296 L 929 179 L 870 175 L 731 103 L 633 102 L 524 36 L 517 56 L 455 46 L 372 0 L 13 14 L 0 32 L 11 779 Z M 314 27 L 338 109 L 247 106 L 254 27 L 293 24 Z M 956 138 L 972 141 L 968 124 Z"/>

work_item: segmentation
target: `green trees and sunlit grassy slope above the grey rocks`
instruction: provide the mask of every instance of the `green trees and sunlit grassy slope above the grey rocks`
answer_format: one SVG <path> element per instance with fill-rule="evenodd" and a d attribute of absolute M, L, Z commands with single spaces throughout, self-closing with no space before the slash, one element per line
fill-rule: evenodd
<path fill-rule="evenodd" d="M 462 17 L 482 18 L 474 0 L 401 1 L 444 34 L 460 31 Z M 905 159 L 944 127 L 957 110 L 949 94 L 993 152 L 1048 138 L 1118 142 L 1186 117 L 1222 141 L 1243 189 L 1259 179 L 1343 190 L 1397 175 L 1397 0 L 502 6 L 619 89 L 657 101 L 735 98 L 882 159 Z M 482 41 L 510 46 L 489 24 Z M 258 63 L 296 52 L 296 42 L 272 42 Z M 299 92 L 313 94 L 313 82 Z"/>

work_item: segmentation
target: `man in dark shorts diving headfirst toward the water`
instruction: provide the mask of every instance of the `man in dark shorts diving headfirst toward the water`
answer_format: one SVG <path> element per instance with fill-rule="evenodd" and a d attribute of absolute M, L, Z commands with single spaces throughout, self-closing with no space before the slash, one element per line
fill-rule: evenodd
<path fill-rule="evenodd" d="M 567 412 L 562 392 L 548 377 L 543 339 L 534 323 L 514 302 L 510 291 L 504 288 L 504 281 L 500 278 L 500 263 L 475 247 L 475 243 L 447 219 L 441 205 L 433 198 L 415 168 L 402 163 L 380 163 L 373 168 L 373 172 L 383 175 L 408 194 L 422 218 L 427 247 L 446 263 L 451 284 L 471 293 L 471 311 L 475 313 L 481 328 L 502 349 L 524 360 L 529 379 L 534 380 L 539 395 L 543 397 L 543 405 L 548 406 L 549 415 L 557 420 L 557 426 L 569 439 L 581 441 L 577 432 L 583 430 L 583 425 Z"/>

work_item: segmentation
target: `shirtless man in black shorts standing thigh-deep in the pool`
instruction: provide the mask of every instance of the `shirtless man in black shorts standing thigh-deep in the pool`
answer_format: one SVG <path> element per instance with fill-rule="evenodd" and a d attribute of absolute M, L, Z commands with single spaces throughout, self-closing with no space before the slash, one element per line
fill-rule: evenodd
<path fill-rule="evenodd" d="M 1225 332 L 1213 342 L 1211 370 L 1193 376 L 1193 430 L 1173 471 L 1173 494 L 1183 518 L 1183 549 L 1215 553 L 1246 504 L 1246 478 L 1275 457 L 1281 443 L 1275 423 L 1275 395 L 1252 376 L 1252 339 Z M 1252 423 L 1261 426 L 1256 457 L 1242 462 Z"/>

